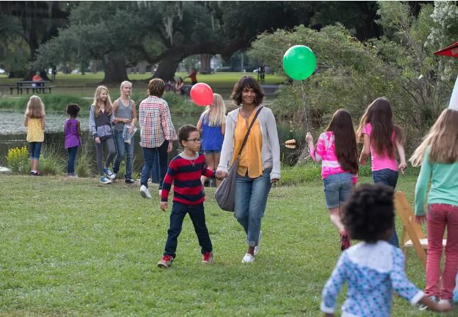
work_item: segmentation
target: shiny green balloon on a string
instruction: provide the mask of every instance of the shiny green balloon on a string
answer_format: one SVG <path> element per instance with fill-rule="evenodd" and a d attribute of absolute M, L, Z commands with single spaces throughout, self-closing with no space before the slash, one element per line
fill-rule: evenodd
<path fill-rule="evenodd" d="M 305 80 L 315 72 L 317 58 L 305 45 L 294 45 L 283 56 L 283 70 L 294 80 Z"/>

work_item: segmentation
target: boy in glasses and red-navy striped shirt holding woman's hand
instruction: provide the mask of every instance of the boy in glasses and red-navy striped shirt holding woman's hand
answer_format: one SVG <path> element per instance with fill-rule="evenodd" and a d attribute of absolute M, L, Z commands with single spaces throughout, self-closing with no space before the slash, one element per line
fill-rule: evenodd
<path fill-rule="evenodd" d="M 170 227 L 162 259 L 158 267 L 168 268 L 176 257 L 178 236 L 183 219 L 189 213 L 199 245 L 202 247 L 202 263 L 213 261 L 212 241 L 205 224 L 205 193 L 200 176 L 214 178 L 215 172 L 205 167 L 205 156 L 199 153 L 200 134 L 196 127 L 186 124 L 178 130 L 178 140 L 184 151 L 175 156 L 168 166 L 160 194 L 160 209 L 167 210 L 168 193 L 173 183 L 173 207 Z"/>

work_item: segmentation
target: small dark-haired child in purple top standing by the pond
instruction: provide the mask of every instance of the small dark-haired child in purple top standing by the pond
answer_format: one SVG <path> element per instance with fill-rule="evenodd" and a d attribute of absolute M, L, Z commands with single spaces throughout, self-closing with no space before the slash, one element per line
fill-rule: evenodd
<path fill-rule="evenodd" d="M 80 121 L 76 118 L 80 113 L 80 106 L 77 104 L 67 105 L 67 114 L 70 116 L 64 123 L 65 149 L 68 151 L 68 177 L 78 177 L 75 173 L 75 160 L 78 147 L 81 146 L 81 127 Z"/>

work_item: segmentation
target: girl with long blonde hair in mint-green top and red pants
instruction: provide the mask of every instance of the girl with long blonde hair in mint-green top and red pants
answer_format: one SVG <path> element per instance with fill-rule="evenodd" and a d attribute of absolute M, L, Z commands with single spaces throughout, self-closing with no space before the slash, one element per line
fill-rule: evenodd
<path fill-rule="evenodd" d="M 427 224 L 427 262 L 425 293 L 432 299 L 452 301 L 458 271 L 458 111 L 445 109 L 410 162 L 420 166 L 415 186 L 415 218 Z M 431 188 L 425 197 L 428 183 Z M 440 284 L 442 240 L 447 227 L 445 265 Z"/>

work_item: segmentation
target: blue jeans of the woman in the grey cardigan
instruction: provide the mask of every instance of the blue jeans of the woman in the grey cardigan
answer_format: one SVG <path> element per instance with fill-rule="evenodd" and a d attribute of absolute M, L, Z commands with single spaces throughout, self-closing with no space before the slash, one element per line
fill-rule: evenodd
<path fill-rule="evenodd" d="M 271 171 L 266 168 L 256 178 L 236 177 L 234 217 L 244 227 L 246 243 L 250 247 L 258 245 L 261 218 L 266 210 L 267 196 L 271 190 Z"/>

